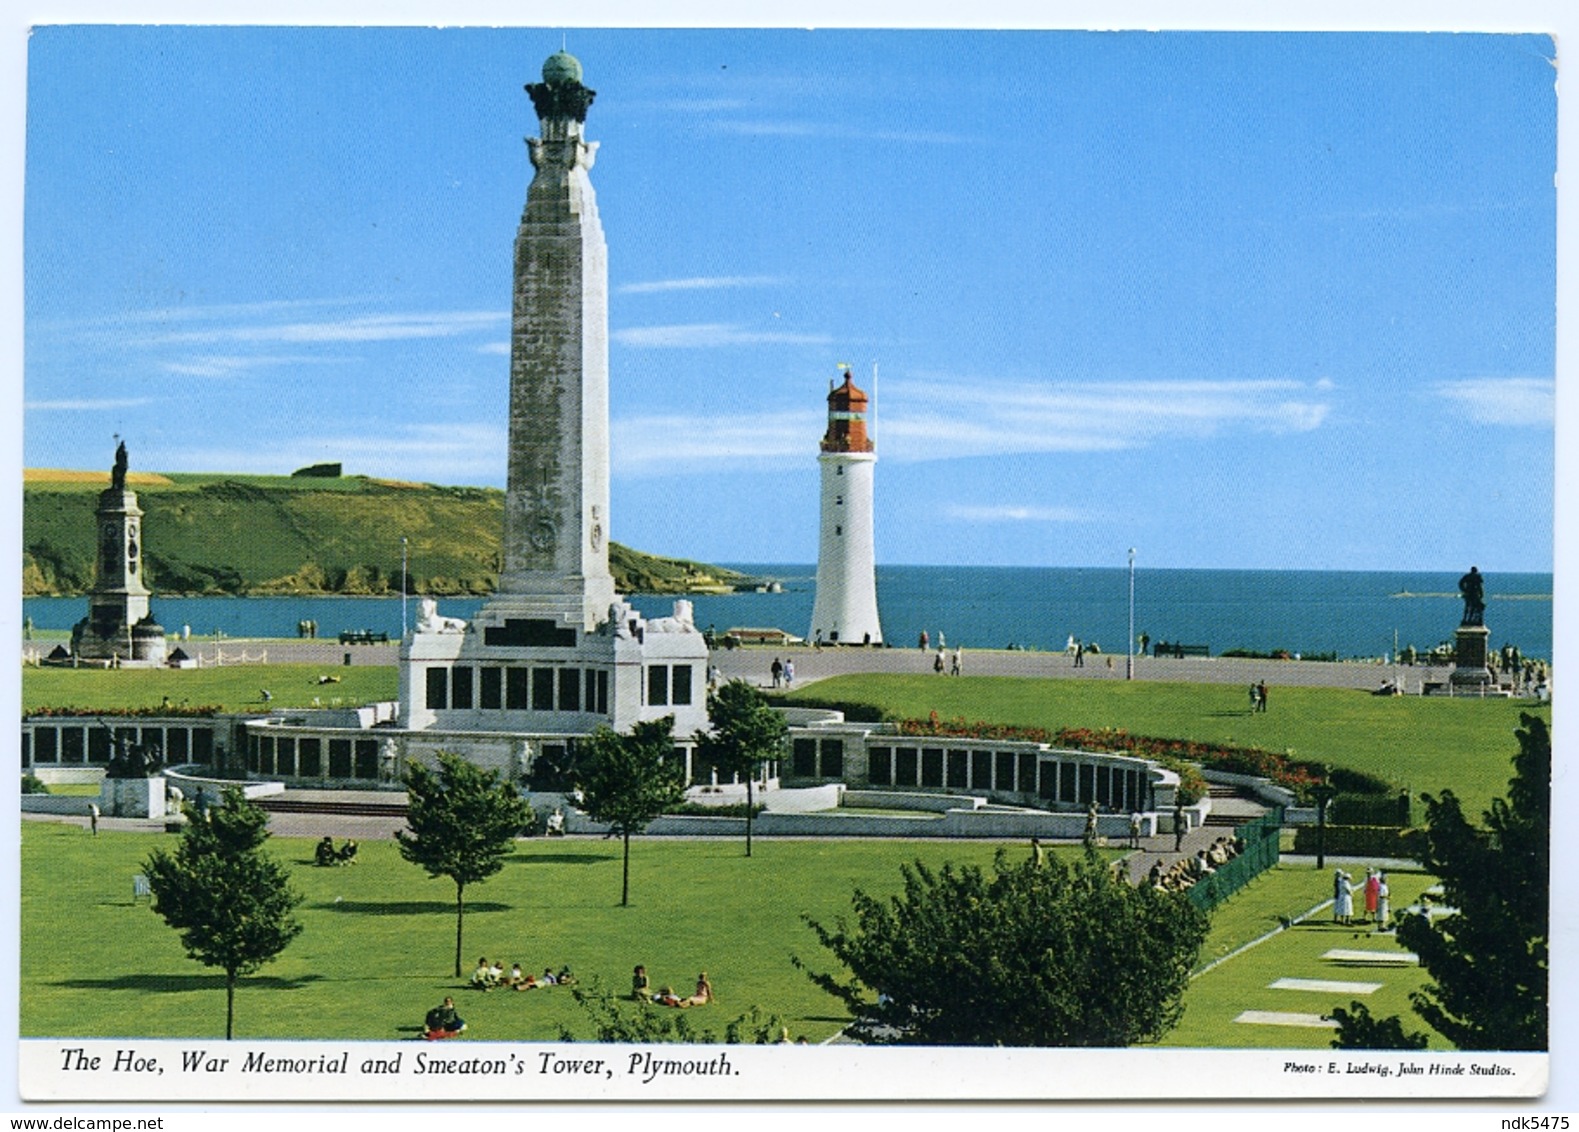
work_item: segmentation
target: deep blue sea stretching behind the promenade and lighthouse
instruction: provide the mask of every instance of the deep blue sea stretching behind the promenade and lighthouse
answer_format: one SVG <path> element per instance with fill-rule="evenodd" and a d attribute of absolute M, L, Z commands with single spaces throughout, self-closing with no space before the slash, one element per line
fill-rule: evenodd
<path fill-rule="evenodd" d="M 696 624 L 777 627 L 805 636 L 812 624 L 816 568 L 733 564 L 782 584 L 778 594 L 692 598 Z M 1462 602 L 1461 572 L 1317 570 L 1137 570 L 1135 633 L 1151 641 L 1292 654 L 1383 657 L 1431 649 L 1453 639 Z M 439 611 L 471 617 L 483 598 L 441 598 Z M 674 598 L 636 595 L 646 616 L 666 616 Z M 87 598 L 25 598 L 38 628 L 71 628 Z M 166 630 L 191 625 L 227 636 L 295 636 L 297 620 L 314 619 L 321 636 L 341 630 L 401 630 L 398 597 L 155 597 Z M 891 646 L 911 647 L 922 630 L 933 646 L 1058 650 L 1074 636 L 1107 652 L 1124 652 L 1129 572 L 1075 567 L 878 567 L 878 613 Z M 415 602 L 409 616 L 415 617 Z M 1552 655 L 1552 575 L 1486 576 L 1486 625 L 1492 647 L 1516 644 L 1527 657 Z"/>

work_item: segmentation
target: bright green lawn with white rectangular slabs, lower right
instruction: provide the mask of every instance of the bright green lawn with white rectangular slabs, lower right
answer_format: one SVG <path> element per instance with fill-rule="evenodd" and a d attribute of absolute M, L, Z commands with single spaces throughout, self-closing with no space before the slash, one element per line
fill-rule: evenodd
<path fill-rule="evenodd" d="M 1394 913 L 1415 903 L 1432 883 L 1432 878 L 1424 873 L 1388 873 Z M 1266 908 L 1304 911 L 1325 900 L 1330 890 L 1331 875 L 1325 871 L 1276 868 L 1263 875 L 1213 917 L 1213 931 L 1203 958 L 1225 955 L 1233 949 L 1228 946 L 1228 936 L 1235 924 L 1254 924 Z M 1263 924 L 1251 938 L 1263 935 L 1271 927 L 1276 925 Z M 1391 935 L 1377 935 L 1366 927 L 1333 924 L 1331 909 L 1326 909 L 1200 974 L 1184 993 L 1184 1020 L 1162 1039 L 1162 1045 L 1326 1050 L 1331 1048 L 1333 1042 L 1331 1029 L 1249 1025 L 1238 1023 L 1235 1018 L 1244 1010 L 1322 1015 L 1333 1007 L 1364 1003 L 1372 1015 L 1397 1014 L 1404 1018 L 1404 1029 L 1429 1034 L 1429 1048 L 1453 1048 L 1410 1007 L 1408 993 L 1429 980 L 1423 969 L 1418 966 L 1339 965 L 1322 958 L 1331 949 L 1401 950 Z M 1341 990 L 1273 988 L 1271 984 L 1279 979 L 1382 985 L 1363 995 Z"/>

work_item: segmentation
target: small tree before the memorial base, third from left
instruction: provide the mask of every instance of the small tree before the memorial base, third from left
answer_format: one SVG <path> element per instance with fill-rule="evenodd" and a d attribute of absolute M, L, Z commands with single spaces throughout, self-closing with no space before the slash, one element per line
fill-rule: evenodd
<path fill-rule="evenodd" d="M 630 835 L 685 797 L 685 764 L 674 758 L 674 717 L 636 723 L 628 736 L 598 728 L 581 745 L 576 789 L 592 821 L 625 843 L 619 903 L 630 903 Z"/>

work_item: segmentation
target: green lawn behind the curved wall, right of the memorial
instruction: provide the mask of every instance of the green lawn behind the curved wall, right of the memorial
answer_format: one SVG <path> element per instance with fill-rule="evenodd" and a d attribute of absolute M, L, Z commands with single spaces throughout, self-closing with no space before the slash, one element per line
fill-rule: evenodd
<path fill-rule="evenodd" d="M 1369 770 L 1416 796 L 1451 788 L 1470 815 L 1506 793 L 1519 714 L 1551 706 L 1506 699 L 1372 696 L 1348 688 L 1273 688 L 1270 710 L 1246 710 L 1233 684 L 1047 680 L 1014 676 L 862 674 L 818 680 L 785 703 L 835 699 L 895 718 L 965 717 L 1041 728 L 1123 728 L 1131 734 L 1293 752 Z"/>

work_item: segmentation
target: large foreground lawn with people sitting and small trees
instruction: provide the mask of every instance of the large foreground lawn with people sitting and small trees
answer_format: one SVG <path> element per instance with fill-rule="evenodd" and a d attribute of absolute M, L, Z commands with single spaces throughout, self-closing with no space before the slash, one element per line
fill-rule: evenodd
<path fill-rule="evenodd" d="M 183 955 L 131 878 L 161 834 L 93 838 L 79 826 L 22 823 L 21 1033 L 28 1037 L 213 1037 L 224 1033 L 224 979 Z M 478 1040 L 589 1037 L 570 995 L 463 990 L 452 977 L 455 887 L 401 860 L 393 842 L 366 842 L 358 864 L 314 868 L 313 842 L 273 838 L 306 897 L 303 931 L 237 990 L 237 1037 L 411 1037 L 428 1007 L 455 995 Z M 617 842 L 523 842 L 504 871 L 467 889 L 466 973 L 478 955 L 523 969 L 568 963 L 583 982 L 630 987 L 644 963 L 654 988 L 690 993 L 707 971 L 714 1006 L 688 1017 L 723 1028 L 752 1006 L 821 1040 L 842 1007 L 790 965 L 832 958 L 801 914 L 831 920 L 850 895 L 895 892 L 898 865 L 992 862 L 977 842 L 771 842 L 745 859 L 741 842 L 639 840 L 632 845 L 632 906 L 619 906 Z"/>

